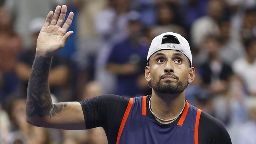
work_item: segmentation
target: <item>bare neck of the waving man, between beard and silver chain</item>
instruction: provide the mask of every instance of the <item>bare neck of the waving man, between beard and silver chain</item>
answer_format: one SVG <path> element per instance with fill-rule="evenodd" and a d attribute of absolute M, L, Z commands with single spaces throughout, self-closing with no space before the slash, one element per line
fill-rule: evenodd
<path fill-rule="evenodd" d="M 161 94 L 152 89 L 151 108 L 165 120 L 177 116 L 184 106 L 185 90 L 179 94 Z"/>

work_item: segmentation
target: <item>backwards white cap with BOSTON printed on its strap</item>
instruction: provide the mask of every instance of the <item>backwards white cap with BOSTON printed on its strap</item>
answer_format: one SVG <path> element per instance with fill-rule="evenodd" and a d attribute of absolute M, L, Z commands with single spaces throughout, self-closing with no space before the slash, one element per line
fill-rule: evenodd
<path fill-rule="evenodd" d="M 162 44 L 162 40 L 165 35 L 173 35 L 176 39 L 178 39 L 179 44 L 176 44 L 176 43 Z M 151 55 L 153 55 L 155 52 L 158 52 L 160 50 L 178 50 L 179 52 L 182 52 L 184 55 L 186 55 L 186 57 L 189 59 L 190 64 L 192 66 L 192 54 L 190 51 L 189 43 L 180 34 L 167 32 L 167 33 L 162 33 L 156 36 L 152 40 L 150 48 L 148 50 L 147 63 Z"/>

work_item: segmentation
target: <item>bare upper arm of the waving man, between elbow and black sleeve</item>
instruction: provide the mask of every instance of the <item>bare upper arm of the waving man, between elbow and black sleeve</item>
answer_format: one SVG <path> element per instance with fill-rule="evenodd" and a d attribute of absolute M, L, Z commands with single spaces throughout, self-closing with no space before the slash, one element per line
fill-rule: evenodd
<path fill-rule="evenodd" d="M 44 118 L 34 117 L 32 119 L 33 122 L 28 122 L 39 127 L 72 130 L 85 129 L 82 106 L 79 102 L 53 103 L 50 114 Z"/>

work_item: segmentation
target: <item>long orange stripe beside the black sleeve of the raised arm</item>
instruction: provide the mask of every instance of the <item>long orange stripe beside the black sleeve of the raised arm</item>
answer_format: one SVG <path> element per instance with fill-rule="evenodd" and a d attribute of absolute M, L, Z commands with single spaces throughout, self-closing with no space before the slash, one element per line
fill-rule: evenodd
<path fill-rule="evenodd" d="M 127 120 L 128 116 L 129 116 L 129 113 L 130 113 L 130 110 L 132 108 L 133 102 L 134 102 L 134 99 L 130 98 L 129 103 L 128 103 L 127 108 L 126 108 L 126 111 L 124 113 L 124 116 L 122 118 L 121 125 L 119 127 L 119 131 L 118 131 L 118 135 L 117 135 L 117 144 L 119 144 L 119 140 L 120 140 L 121 135 L 122 135 L 122 130 L 124 129 L 124 125 L 125 125 L 126 120 Z"/>

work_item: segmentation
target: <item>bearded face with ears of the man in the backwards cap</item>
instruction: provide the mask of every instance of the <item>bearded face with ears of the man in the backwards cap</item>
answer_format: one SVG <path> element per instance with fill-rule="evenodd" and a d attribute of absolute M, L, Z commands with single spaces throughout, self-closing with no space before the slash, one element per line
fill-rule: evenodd
<path fill-rule="evenodd" d="M 152 89 L 162 94 L 183 92 L 195 77 L 195 68 L 190 68 L 187 57 L 176 50 L 161 50 L 150 57 L 150 66 L 145 77 Z"/>

